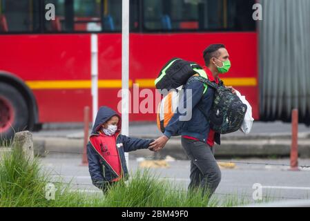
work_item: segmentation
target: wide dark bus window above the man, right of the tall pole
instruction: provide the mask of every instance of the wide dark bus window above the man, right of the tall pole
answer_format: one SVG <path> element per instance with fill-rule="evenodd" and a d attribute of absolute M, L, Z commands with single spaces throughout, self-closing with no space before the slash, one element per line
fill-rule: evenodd
<path fill-rule="evenodd" d="M 144 30 L 255 30 L 255 0 L 143 0 Z"/>

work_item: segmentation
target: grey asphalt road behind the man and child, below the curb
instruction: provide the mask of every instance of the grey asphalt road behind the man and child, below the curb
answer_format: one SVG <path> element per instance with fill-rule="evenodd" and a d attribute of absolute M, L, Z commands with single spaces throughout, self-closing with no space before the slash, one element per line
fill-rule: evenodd
<path fill-rule="evenodd" d="M 227 160 L 225 160 L 227 161 Z M 222 169 L 222 182 L 215 191 L 216 198 L 238 196 L 249 202 L 253 200 L 253 184 L 262 185 L 262 198 L 271 201 L 310 199 L 310 168 L 300 171 L 289 171 L 289 166 L 264 165 L 289 164 L 289 159 L 232 159 L 233 162 L 249 162 L 250 164 L 236 164 L 235 169 Z M 88 166 L 81 166 L 81 155 L 64 155 L 50 153 L 41 158 L 47 169 L 52 169 L 55 180 L 72 182 L 72 189 L 97 192 L 98 189 L 91 184 Z M 258 164 L 256 164 L 258 163 Z M 186 189 L 189 183 L 189 162 L 176 160 L 168 162 L 168 168 L 151 169 L 151 173 L 160 179 L 166 179 Z M 310 159 L 299 161 L 299 165 L 310 166 Z M 137 171 L 137 159 L 129 160 L 130 171 Z"/>

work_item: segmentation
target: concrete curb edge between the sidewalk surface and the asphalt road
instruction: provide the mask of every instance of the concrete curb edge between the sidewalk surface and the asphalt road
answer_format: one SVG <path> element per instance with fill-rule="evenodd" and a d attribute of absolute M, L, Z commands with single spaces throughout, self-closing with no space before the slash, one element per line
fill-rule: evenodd
<path fill-rule="evenodd" d="M 83 139 L 68 139 L 66 137 L 34 137 L 35 146 L 41 145 L 39 153 L 57 151 L 68 153 L 83 153 Z M 38 149 L 38 148 L 37 148 Z M 41 152 L 40 152 L 41 151 Z M 215 145 L 215 157 L 289 157 L 291 140 L 222 140 L 220 146 Z M 310 157 L 310 139 L 298 140 L 298 153 L 301 158 Z M 130 152 L 133 157 L 164 159 L 171 156 L 177 160 L 188 160 L 182 148 L 180 137 L 173 137 L 160 152 L 148 149 Z"/>

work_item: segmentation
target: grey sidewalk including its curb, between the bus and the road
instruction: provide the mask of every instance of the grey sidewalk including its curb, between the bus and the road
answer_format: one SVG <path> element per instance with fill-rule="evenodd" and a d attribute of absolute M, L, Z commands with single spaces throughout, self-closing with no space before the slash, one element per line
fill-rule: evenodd
<path fill-rule="evenodd" d="M 59 124 L 46 126 L 43 131 L 33 133 L 34 141 L 43 151 L 59 151 L 82 153 L 84 133 L 81 125 L 66 128 Z M 141 138 L 156 139 L 162 133 L 155 123 L 133 123 L 129 127 L 129 135 Z M 240 131 L 222 135 L 222 144 L 215 146 L 216 157 L 289 157 L 291 148 L 291 124 L 282 122 L 255 122 L 249 135 Z M 300 157 L 310 157 L 310 128 L 298 126 L 298 151 Z M 159 153 L 148 150 L 131 152 L 133 157 L 164 158 L 167 155 L 179 160 L 186 160 L 180 137 L 171 137 Z"/>

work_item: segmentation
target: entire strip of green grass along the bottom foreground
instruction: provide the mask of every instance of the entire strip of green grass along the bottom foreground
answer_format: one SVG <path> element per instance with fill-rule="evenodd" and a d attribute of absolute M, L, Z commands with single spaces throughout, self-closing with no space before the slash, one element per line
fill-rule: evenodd
<path fill-rule="evenodd" d="M 72 191 L 70 184 L 55 183 L 55 200 L 46 200 L 46 184 L 52 181 L 50 172 L 43 171 L 39 158 L 28 160 L 13 151 L 0 162 L 0 206 L 238 206 L 246 204 L 237 196 L 216 198 L 202 195 L 202 189 L 188 191 L 166 180 L 159 180 L 149 171 L 137 171 L 130 182 L 119 182 L 108 194 Z M 55 181 L 55 180 L 53 180 Z"/>

